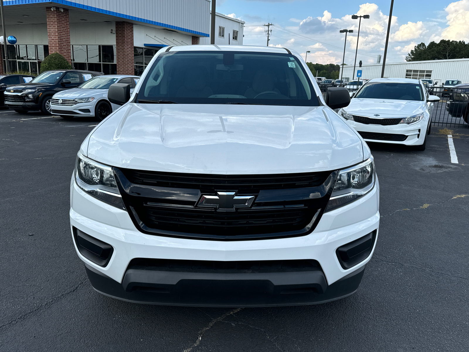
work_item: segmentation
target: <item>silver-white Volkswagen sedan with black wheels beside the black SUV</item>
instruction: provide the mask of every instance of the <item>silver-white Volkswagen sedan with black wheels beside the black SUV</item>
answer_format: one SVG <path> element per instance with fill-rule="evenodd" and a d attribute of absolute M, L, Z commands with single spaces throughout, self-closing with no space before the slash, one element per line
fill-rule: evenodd
<path fill-rule="evenodd" d="M 101 121 L 119 107 L 107 99 L 111 84 L 130 84 L 132 93 L 139 79 L 138 76 L 124 75 L 93 77 L 77 88 L 54 94 L 51 100 L 52 113 L 63 118 L 94 116 Z"/>

